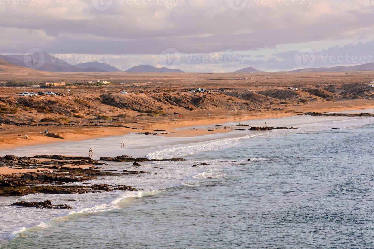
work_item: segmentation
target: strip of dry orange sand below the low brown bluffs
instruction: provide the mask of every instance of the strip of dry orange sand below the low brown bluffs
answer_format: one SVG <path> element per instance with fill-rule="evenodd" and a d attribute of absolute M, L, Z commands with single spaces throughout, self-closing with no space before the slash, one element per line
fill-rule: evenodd
<path fill-rule="evenodd" d="M 361 109 L 358 109 L 361 108 Z M 251 113 L 251 115 L 231 115 L 231 116 L 200 116 L 196 118 L 184 118 L 177 120 L 163 120 L 157 122 L 146 121 L 144 123 L 138 123 L 138 129 L 122 128 L 122 127 L 84 127 L 84 126 L 74 126 L 74 127 L 59 127 L 52 126 L 52 132 L 56 132 L 64 137 L 64 139 L 46 137 L 44 135 L 28 135 L 29 139 L 22 139 L 22 135 L 26 134 L 29 131 L 31 134 L 39 133 L 37 130 L 43 130 L 44 125 L 25 126 L 25 127 L 15 127 L 14 125 L 10 127 L 12 130 L 11 134 L 3 136 L 0 140 L 0 152 L 3 150 L 10 150 L 19 147 L 35 146 L 35 145 L 44 145 L 44 144 L 53 144 L 59 143 L 61 141 L 84 141 L 90 139 L 98 139 L 104 137 L 116 137 L 123 136 L 131 133 L 159 133 L 159 129 L 167 130 L 165 134 L 159 134 L 158 136 L 166 137 L 196 137 L 211 134 L 205 130 L 184 130 L 183 128 L 203 126 L 203 125 L 221 125 L 227 124 L 230 122 L 235 122 L 239 124 L 240 122 L 253 121 L 253 120 L 265 120 L 265 119 L 277 119 L 285 118 L 290 116 L 297 116 L 303 114 L 304 112 L 314 111 L 314 112 L 344 112 L 344 111 L 357 111 L 373 109 L 373 106 L 346 106 L 346 107 L 325 107 L 325 108 L 307 108 L 307 109 L 297 109 L 289 110 L 288 112 L 273 112 L 273 113 Z M 257 114 L 257 115 L 255 115 Z M 123 124 L 129 126 L 135 126 L 132 124 Z M 12 128 L 21 128 L 16 133 Z M 225 130 L 215 130 L 215 133 L 228 133 L 229 131 Z M 30 134 L 29 133 L 29 134 Z"/>

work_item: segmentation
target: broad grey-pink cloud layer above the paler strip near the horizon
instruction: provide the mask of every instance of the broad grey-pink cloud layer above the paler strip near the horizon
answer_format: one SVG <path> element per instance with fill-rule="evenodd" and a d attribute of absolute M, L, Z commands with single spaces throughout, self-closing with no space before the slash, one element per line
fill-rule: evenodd
<path fill-rule="evenodd" d="M 187 54 L 246 51 L 251 55 L 284 44 L 303 47 L 374 38 L 373 12 L 361 0 L 299 0 L 289 5 L 284 0 L 249 0 L 241 11 L 230 9 L 226 0 L 110 0 L 105 11 L 95 9 L 91 0 L 28 1 L 15 5 L 16 0 L 0 0 L 0 53 L 41 47 L 49 53 L 131 55 L 140 61 L 169 47 Z M 369 46 L 347 44 L 341 49 L 358 53 L 355 49 Z M 255 55 L 262 60 L 246 63 L 282 70 L 292 66 L 292 51 L 274 54 L 276 61 L 286 62 L 283 65 L 269 55 Z M 207 70 L 205 64 L 200 66 Z M 223 68 L 218 65 L 212 70 Z"/>

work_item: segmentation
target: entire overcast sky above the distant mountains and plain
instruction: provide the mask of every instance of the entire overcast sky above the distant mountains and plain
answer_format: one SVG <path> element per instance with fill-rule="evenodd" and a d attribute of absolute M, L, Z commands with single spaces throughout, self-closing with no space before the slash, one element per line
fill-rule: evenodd
<path fill-rule="evenodd" d="M 0 0 L 0 53 L 186 72 L 374 62 L 374 0 Z"/>

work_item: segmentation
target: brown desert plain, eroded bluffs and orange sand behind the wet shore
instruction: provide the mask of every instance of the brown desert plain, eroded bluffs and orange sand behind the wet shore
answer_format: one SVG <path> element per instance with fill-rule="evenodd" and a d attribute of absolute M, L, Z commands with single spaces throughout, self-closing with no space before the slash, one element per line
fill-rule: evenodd
<path fill-rule="evenodd" d="M 101 87 L 78 84 L 51 89 L 0 87 L 2 148 L 129 132 L 194 136 L 208 131 L 176 133 L 175 128 L 374 106 L 374 88 L 367 84 L 374 76 L 373 71 L 52 73 L 25 70 L 7 63 L 1 66 L 0 82 L 27 81 L 42 85 L 64 79 L 66 83 L 80 83 L 82 80 L 109 80 L 113 83 Z M 139 87 L 131 87 L 131 84 Z M 187 92 L 197 87 L 210 92 Z M 298 88 L 298 91 L 291 91 L 289 87 Z M 218 91 L 221 88 L 225 91 Z M 40 91 L 53 91 L 61 96 L 19 96 L 21 92 Z M 121 91 L 128 94 L 120 94 Z M 45 136 L 42 134 L 45 129 L 60 138 Z M 28 140 L 24 139 L 25 135 Z"/>

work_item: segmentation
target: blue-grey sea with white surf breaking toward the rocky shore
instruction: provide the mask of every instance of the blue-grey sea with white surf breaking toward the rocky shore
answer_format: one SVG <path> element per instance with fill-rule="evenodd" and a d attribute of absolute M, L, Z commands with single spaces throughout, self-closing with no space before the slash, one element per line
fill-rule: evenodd
<path fill-rule="evenodd" d="M 75 199 L 71 213 L 13 209 L 8 227 L 25 214 L 37 226 L 4 232 L 14 239 L 2 248 L 373 248 L 372 119 L 299 128 L 156 147 L 148 156 L 180 153 L 188 161 L 107 180 L 138 192 L 48 195 Z M 201 162 L 209 165 L 191 167 Z M 0 210 L 15 199 L 2 200 Z"/>

